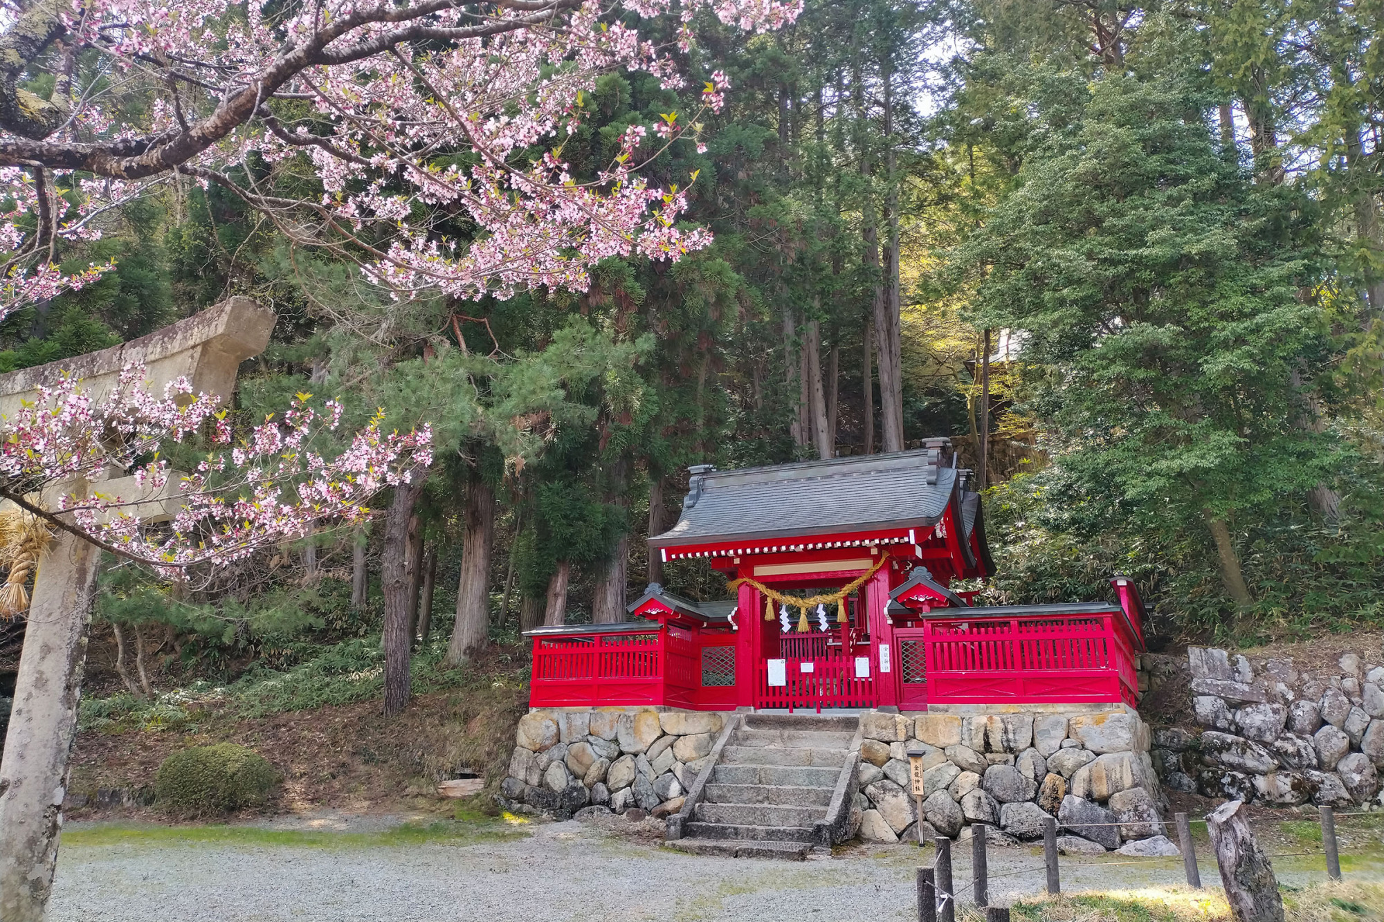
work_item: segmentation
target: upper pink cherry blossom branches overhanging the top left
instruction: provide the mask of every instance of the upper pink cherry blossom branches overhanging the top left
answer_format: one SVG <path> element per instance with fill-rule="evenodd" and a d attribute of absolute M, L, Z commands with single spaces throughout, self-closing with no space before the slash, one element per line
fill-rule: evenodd
<path fill-rule="evenodd" d="M 584 291 L 616 255 L 678 259 L 703 248 L 682 228 L 685 188 L 655 188 L 637 165 L 673 143 L 700 144 L 704 111 L 631 126 L 613 159 L 576 177 L 563 140 L 583 97 L 616 69 L 684 87 L 692 22 L 765 30 L 801 0 L 7 0 L 0 18 L 0 316 L 78 288 L 109 266 L 64 274 L 60 241 L 101 233 L 101 215 L 174 174 L 219 186 L 292 239 L 360 262 L 397 293 L 461 298 L 519 287 Z M 623 8 L 621 8 L 623 7 Z M 671 46 L 641 18 L 671 15 Z M 635 24 L 635 25 L 631 25 Z M 40 96 L 33 78 L 53 75 Z M 159 89 L 144 122 L 112 86 Z M 30 86 L 32 84 L 32 86 Z M 644 150 L 641 150 L 644 148 Z M 652 148 L 652 150 L 650 150 Z M 270 169 L 309 170 L 318 192 L 285 198 Z M 441 233 L 464 215 L 476 234 Z"/>

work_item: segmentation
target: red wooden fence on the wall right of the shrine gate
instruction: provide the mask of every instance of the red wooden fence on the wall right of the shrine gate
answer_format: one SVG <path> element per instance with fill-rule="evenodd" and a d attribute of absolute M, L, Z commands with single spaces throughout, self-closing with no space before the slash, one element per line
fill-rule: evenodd
<path fill-rule="evenodd" d="M 901 706 L 1138 700 L 1135 638 L 1122 612 L 929 617 L 894 631 Z M 909 652 L 922 647 L 922 676 Z M 912 680 L 912 681 L 911 681 Z"/>

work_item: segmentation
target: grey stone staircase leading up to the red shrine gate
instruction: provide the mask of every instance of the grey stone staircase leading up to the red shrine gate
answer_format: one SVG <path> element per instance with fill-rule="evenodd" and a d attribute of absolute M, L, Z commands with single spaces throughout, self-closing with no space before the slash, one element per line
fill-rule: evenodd
<path fill-rule="evenodd" d="M 670 849 L 801 861 L 854 795 L 857 717 L 743 714 Z M 850 772 L 844 771 L 850 761 Z M 847 790 L 847 788 L 851 788 Z M 670 825 L 670 829 L 673 825 Z"/>

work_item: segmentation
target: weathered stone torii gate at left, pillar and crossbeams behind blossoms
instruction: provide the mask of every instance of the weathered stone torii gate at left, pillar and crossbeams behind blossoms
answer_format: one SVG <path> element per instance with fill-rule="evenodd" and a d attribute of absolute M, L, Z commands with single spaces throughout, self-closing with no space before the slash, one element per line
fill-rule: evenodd
<path fill-rule="evenodd" d="M 194 393 L 226 400 L 241 361 L 268 345 L 273 328 L 273 311 L 248 298 L 231 298 L 148 336 L 0 375 L 0 414 L 12 417 L 22 400 L 35 400 L 37 388 L 64 374 L 80 378 L 98 403 L 134 361 L 144 363 L 155 396 L 167 382 L 187 377 Z M 145 521 L 172 518 L 179 509 L 177 478 L 158 494 L 141 493 L 133 478 L 71 483 L 64 491 L 94 489 L 137 503 L 134 511 Z M 95 545 L 60 530 L 33 581 L 0 757 L 0 922 L 37 922 L 53 887 L 100 559 Z"/>

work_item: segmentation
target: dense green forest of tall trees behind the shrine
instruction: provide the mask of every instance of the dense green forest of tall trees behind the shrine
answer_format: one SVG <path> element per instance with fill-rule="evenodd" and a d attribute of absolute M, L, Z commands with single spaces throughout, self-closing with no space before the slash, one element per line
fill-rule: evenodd
<path fill-rule="evenodd" d="M 691 180 L 685 219 L 716 242 L 606 260 L 581 295 L 394 302 L 350 253 L 173 177 L 61 249 L 69 270 L 116 267 L 0 324 L 0 370 L 248 295 L 278 325 L 237 413 L 298 392 L 385 407 L 432 422 L 437 462 L 421 493 L 382 497 L 410 515 L 403 540 L 322 532 L 191 594 L 111 561 L 93 631 L 125 691 L 84 720 L 148 713 L 161 683 L 378 673 L 386 559 L 411 586 L 415 689 L 468 662 L 522 667 L 519 631 L 623 620 L 649 581 L 724 595 L 644 551 L 689 465 L 930 436 L 983 471 L 992 602 L 1104 598 L 1122 572 L 1156 642 L 1378 629 L 1381 18 L 808 0 L 765 35 L 709 19 L 686 66 L 724 71 L 727 105 L 704 151 L 644 172 Z M 137 119 L 154 97 L 116 104 Z M 583 105 L 577 170 L 696 109 L 646 73 L 601 78 Z M 317 194 L 292 161 L 242 169 Z M 0 680 L 21 634 L 0 623 Z"/>

